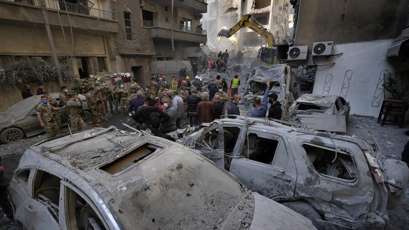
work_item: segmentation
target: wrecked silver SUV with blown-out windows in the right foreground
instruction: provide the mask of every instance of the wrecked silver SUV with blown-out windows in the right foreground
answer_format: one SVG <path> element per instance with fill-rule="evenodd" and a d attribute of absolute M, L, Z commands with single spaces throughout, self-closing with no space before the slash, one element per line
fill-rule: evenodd
<path fill-rule="evenodd" d="M 295 129 L 261 118 L 215 120 L 179 141 L 317 228 L 384 229 L 409 169 L 375 140 Z"/>

